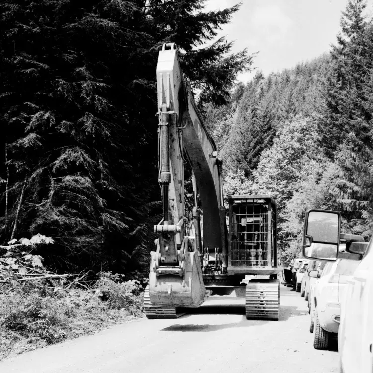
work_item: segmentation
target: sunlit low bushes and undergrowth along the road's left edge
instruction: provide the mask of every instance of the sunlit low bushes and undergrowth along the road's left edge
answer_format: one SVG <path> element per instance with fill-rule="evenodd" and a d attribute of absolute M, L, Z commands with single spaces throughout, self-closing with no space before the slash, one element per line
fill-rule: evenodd
<path fill-rule="evenodd" d="M 52 244 L 38 234 L 0 247 L 0 360 L 143 316 L 141 274 L 52 273 L 33 254 Z"/>

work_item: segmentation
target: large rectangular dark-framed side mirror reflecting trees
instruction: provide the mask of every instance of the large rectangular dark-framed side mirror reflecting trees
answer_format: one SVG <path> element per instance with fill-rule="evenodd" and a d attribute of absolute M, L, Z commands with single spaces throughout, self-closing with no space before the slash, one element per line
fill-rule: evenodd
<path fill-rule="evenodd" d="M 303 256 L 334 262 L 338 257 L 341 215 L 337 211 L 309 210 L 303 231 Z"/>

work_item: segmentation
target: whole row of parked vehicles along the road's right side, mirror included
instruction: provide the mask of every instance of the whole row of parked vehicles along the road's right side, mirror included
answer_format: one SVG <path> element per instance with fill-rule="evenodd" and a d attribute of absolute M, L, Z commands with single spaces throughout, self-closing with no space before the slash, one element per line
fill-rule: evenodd
<path fill-rule="evenodd" d="M 338 336 L 340 372 L 373 373 L 373 238 L 340 233 L 337 212 L 310 210 L 303 247 L 296 291 L 308 301 L 314 347 L 328 349 Z"/>

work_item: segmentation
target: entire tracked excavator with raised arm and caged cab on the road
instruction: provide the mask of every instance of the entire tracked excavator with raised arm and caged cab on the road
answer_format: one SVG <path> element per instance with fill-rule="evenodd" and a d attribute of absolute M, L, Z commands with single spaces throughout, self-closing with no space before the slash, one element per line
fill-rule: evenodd
<path fill-rule="evenodd" d="M 158 238 L 151 252 L 145 315 L 177 318 L 211 295 L 228 295 L 245 298 L 247 319 L 278 320 L 276 279 L 282 268 L 277 265 L 276 203 L 269 195 L 227 196 L 228 230 L 222 161 L 182 74 L 175 43 L 159 51 L 156 73 L 163 218 L 154 226 Z M 187 162 L 193 234 L 185 216 Z M 246 275 L 258 276 L 246 284 Z"/>

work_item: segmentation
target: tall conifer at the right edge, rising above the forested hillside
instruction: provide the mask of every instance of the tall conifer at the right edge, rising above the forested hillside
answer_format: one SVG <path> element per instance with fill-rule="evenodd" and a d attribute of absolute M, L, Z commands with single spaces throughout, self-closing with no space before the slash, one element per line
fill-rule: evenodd
<path fill-rule="evenodd" d="M 363 0 L 350 0 L 341 18 L 321 123 L 325 147 L 339 168 L 335 191 L 343 214 L 353 230 L 367 235 L 373 224 L 373 28 L 365 7 Z"/>

